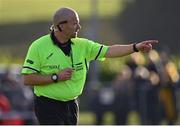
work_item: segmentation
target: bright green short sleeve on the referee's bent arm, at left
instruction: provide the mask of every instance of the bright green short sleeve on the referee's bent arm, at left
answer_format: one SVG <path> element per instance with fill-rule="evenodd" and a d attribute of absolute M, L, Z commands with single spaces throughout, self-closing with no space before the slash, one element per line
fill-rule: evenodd
<path fill-rule="evenodd" d="M 31 74 L 40 72 L 40 57 L 37 45 L 33 43 L 26 55 L 21 74 Z"/>

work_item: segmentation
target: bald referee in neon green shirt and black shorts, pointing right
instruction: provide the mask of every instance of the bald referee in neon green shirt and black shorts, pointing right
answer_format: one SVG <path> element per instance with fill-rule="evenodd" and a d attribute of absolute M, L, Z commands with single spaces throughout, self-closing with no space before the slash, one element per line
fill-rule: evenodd
<path fill-rule="evenodd" d="M 77 98 L 81 95 L 92 60 L 148 52 L 157 40 L 105 46 L 78 38 L 79 17 L 71 8 L 53 16 L 52 32 L 29 47 L 23 68 L 24 83 L 34 87 L 34 110 L 40 124 L 78 123 Z"/>

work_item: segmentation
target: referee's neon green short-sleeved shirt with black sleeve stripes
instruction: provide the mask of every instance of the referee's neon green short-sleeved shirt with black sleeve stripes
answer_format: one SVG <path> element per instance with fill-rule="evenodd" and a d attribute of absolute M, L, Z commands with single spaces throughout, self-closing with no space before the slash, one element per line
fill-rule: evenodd
<path fill-rule="evenodd" d="M 87 68 L 92 60 L 104 58 L 108 46 L 84 38 L 71 39 L 74 72 L 70 80 L 59 81 L 45 86 L 34 86 L 37 96 L 68 101 L 77 98 L 83 90 Z M 48 75 L 72 68 L 72 59 L 53 43 L 50 35 L 34 41 L 27 53 L 22 74 L 39 73 Z"/>

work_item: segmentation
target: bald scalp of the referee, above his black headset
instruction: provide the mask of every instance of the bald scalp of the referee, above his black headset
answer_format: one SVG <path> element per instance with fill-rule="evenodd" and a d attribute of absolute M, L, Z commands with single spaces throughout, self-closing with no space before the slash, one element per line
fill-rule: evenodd
<path fill-rule="evenodd" d="M 75 10 L 67 7 L 60 8 L 55 12 L 53 16 L 53 25 L 57 26 L 59 23 L 67 21 L 74 15 L 78 16 Z"/>

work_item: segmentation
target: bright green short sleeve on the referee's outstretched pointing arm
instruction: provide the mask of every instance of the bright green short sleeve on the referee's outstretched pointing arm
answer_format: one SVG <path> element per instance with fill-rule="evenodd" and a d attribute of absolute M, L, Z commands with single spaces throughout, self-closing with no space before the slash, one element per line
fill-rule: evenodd
<path fill-rule="evenodd" d="M 86 49 L 87 49 L 87 60 L 104 60 L 105 59 L 105 54 L 108 50 L 108 46 L 99 44 L 97 42 L 87 40 L 86 41 Z"/>

